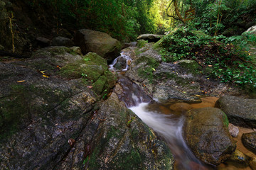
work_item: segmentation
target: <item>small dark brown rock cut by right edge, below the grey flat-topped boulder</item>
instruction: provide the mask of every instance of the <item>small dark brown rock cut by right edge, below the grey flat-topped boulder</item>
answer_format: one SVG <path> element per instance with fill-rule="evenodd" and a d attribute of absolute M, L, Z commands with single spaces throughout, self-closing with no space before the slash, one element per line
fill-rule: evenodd
<path fill-rule="evenodd" d="M 242 144 L 256 154 L 256 132 L 242 134 Z"/>

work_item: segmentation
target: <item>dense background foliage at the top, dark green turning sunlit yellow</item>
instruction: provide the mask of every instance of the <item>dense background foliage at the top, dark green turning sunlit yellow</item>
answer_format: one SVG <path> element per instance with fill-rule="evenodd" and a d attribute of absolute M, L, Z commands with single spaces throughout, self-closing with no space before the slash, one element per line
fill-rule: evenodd
<path fill-rule="evenodd" d="M 164 1 L 164 0 L 162 0 Z M 135 40 L 138 33 L 154 33 L 166 26 L 159 0 L 26 0 L 35 11 L 53 11 L 56 27 L 89 28 L 119 40 Z M 42 11 L 42 10 L 41 10 Z"/>

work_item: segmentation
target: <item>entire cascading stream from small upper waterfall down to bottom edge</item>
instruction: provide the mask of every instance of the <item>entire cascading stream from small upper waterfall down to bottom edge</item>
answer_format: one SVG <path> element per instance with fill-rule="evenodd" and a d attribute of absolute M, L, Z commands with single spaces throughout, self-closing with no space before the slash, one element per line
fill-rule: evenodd
<path fill-rule="evenodd" d="M 131 58 L 124 55 L 124 52 L 122 52 L 119 57 L 123 57 L 127 61 L 126 66 L 123 66 L 119 71 L 126 71 L 129 67 L 127 63 Z M 117 71 L 114 65 L 117 64 L 119 57 L 110 65 L 111 71 Z M 161 107 L 161 103 L 157 103 L 156 101 L 152 102 L 152 98 L 146 96 L 144 92 L 139 89 L 137 84 L 134 84 L 127 77 L 124 77 L 121 72 L 119 72 L 118 82 L 120 86 L 122 86 L 123 91 L 122 94 L 118 95 L 119 99 L 124 101 L 129 109 L 137 114 L 146 125 L 152 128 L 154 132 L 169 145 L 175 157 L 175 169 L 208 169 L 194 156 L 183 140 L 182 129 L 185 120 L 183 113 L 171 113 L 171 110 L 169 110 L 170 113 L 168 115 L 161 113 L 161 109 L 158 109 Z"/>

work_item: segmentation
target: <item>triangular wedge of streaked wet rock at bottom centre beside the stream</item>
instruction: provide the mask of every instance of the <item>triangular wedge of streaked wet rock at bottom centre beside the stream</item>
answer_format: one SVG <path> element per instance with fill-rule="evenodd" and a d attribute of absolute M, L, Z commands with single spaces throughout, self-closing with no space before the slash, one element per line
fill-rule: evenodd
<path fill-rule="evenodd" d="M 113 93 L 57 169 L 173 169 L 173 164 L 166 144 Z"/>

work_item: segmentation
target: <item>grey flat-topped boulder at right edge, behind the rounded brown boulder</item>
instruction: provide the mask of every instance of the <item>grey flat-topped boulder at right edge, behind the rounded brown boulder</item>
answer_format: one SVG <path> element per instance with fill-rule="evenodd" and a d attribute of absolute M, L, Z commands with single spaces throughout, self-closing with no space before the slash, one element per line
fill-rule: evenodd
<path fill-rule="evenodd" d="M 215 103 L 234 125 L 256 128 L 256 99 L 222 96 Z"/>

